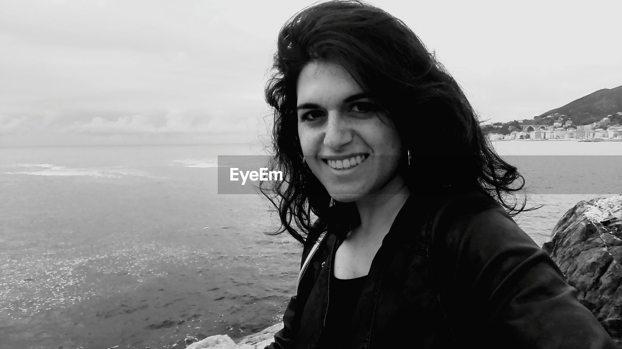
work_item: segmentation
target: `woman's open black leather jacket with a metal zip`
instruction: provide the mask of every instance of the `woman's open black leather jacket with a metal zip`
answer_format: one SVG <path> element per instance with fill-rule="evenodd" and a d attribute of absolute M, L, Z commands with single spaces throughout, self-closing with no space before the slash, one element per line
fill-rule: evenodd
<path fill-rule="evenodd" d="M 305 244 L 297 294 L 266 349 L 316 347 L 340 243 L 329 231 L 317 249 Z M 346 348 L 357 349 L 616 348 L 576 296 L 490 197 L 411 194 L 374 256 L 343 336 Z"/>

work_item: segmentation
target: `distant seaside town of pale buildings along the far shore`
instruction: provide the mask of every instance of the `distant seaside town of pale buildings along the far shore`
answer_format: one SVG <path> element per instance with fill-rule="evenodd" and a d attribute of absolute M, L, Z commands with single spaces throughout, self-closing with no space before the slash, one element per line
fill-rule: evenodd
<path fill-rule="evenodd" d="M 530 124 L 529 119 L 504 124 L 486 125 L 490 140 L 575 140 L 580 142 L 622 142 L 622 125 L 611 123 L 619 120 L 622 112 L 603 117 L 588 125 L 574 125 L 564 114 L 554 113 L 542 119 L 552 120 L 552 125 Z M 496 130 L 498 129 L 498 130 Z"/>

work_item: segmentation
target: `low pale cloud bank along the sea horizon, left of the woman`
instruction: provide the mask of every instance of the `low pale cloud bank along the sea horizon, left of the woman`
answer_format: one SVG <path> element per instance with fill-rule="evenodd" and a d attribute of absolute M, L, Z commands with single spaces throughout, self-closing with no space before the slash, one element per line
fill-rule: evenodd
<path fill-rule="evenodd" d="M 136 114 L 0 113 L 0 147 L 257 142 L 266 133 L 261 113 L 171 109 Z M 257 117 L 255 117 L 257 116 Z"/>

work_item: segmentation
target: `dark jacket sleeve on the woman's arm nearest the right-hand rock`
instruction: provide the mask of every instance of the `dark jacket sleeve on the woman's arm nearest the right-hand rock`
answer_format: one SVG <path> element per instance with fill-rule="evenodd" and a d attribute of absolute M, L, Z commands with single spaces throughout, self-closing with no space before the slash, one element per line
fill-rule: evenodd
<path fill-rule="evenodd" d="M 447 298 L 457 310 L 450 315 L 455 335 L 480 348 L 616 348 L 555 262 L 503 207 L 452 221 L 442 239 L 442 273 L 445 289 L 453 290 Z"/>

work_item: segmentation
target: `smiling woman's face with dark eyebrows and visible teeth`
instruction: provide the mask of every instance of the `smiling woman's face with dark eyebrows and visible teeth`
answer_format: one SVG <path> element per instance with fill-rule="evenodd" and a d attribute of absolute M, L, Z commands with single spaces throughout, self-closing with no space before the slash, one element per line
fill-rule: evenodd
<path fill-rule="evenodd" d="M 352 202 L 404 187 L 391 120 L 340 65 L 314 61 L 297 81 L 300 147 L 333 199 Z"/>

